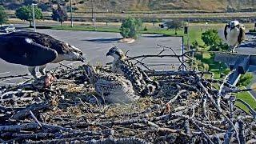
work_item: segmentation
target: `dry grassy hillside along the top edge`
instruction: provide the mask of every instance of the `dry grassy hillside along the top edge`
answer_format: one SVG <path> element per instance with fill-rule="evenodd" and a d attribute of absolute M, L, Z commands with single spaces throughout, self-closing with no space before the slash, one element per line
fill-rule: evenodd
<path fill-rule="evenodd" d="M 61 2 L 69 9 L 70 0 L 0 0 L 8 10 L 38 2 L 38 6 L 49 11 L 56 2 Z M 91 0 L 72 0 L 74 10 L 91 11 Z M 95 11 L 152 11 L 152 10 L 196 10 L 196 11 L 250 11 L 255 10 L 254 0 L 93 0 Z"/>

